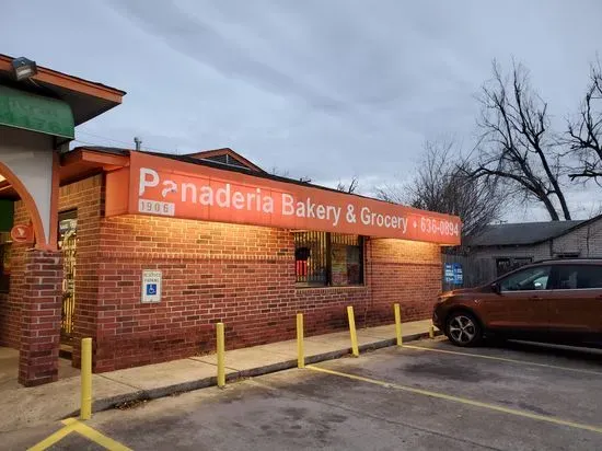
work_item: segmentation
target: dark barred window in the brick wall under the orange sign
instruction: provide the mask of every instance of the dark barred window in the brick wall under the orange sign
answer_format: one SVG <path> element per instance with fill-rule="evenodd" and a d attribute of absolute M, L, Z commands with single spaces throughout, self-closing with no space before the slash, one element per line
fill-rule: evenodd
<path fill-rule="evenodd" d="M 296 232 L 294 261 L 300 287 L 363 284 L 363 236 Z"/>

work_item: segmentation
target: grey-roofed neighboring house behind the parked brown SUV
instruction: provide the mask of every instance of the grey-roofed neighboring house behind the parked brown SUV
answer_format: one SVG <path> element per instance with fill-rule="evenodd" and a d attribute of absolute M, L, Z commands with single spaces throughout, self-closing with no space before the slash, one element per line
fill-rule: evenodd
<path fill-rule="evenodd" d="M 602 257 L 602 216 L 488 226 L 478 236 L 466 239 L 464 250 L 464 286 L 486 284 L 545 258 Z"/>

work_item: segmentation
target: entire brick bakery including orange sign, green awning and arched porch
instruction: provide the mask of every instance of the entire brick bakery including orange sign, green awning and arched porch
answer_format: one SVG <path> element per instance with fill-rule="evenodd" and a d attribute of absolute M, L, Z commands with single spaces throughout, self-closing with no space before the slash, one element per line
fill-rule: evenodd
<path fill-rule="evenodd" d="M 58 379 L 430 315 L 459 218 L 267 174 L 230 149 L 69 149 L 126 93 L 0 55 L 0 346 Z M 13 352 L 14 355 L 14 352 Z"/>

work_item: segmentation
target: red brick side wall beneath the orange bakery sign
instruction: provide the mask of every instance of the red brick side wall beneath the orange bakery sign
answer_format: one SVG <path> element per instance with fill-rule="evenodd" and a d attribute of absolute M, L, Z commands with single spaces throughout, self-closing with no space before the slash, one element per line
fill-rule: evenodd
<path fill-rule="evenodd" d="M 94 338 L 95 371 L 108 371 L 211 351 L 218 321 L 228 348 L 238 348 L 294 337 L 297 312 L 305 314 L 308 335 L 346 327 L 349 304 L 358 327 L 391 323 L 393 302 L 402 303 L 404 320 L 426 319 L 441 290 L 433 244 L 367 240 L 364 286 L 297 289 L 291 232 L 103 218 L 102 187 L 95 176 L 60 190 L 59 210 L 78 209 L 74 366 L 84 336 Z M 159 304 L 140 302 L 143 269 L 163 271 Z"/>

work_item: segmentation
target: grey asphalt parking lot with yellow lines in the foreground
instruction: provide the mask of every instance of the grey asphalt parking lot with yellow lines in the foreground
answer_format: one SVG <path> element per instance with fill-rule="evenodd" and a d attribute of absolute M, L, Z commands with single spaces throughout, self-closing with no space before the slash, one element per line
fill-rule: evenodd
<path fill-rule="evenodd" d="M 602 352 L 414 342 L 94 415 L 135 450 L 602 449 Z M 8 435 L 24 449 L 57 425 Z M 101 449 L 73 432 L 50 449 Z"/>

